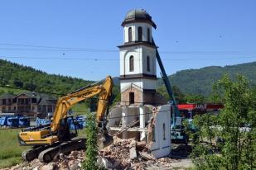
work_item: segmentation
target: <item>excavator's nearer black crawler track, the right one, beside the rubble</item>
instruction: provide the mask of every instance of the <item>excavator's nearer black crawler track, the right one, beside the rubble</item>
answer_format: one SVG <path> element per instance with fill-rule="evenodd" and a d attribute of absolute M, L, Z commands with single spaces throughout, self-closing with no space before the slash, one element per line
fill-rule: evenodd
<path fill-rule="evenodd" d="M 70 153 L 73 150 L 85 149 L 85 138 L 73 138 L 54 147 L 47 148 L 38 155 L 41 163 L 50 163 L 60 153 Z"/>

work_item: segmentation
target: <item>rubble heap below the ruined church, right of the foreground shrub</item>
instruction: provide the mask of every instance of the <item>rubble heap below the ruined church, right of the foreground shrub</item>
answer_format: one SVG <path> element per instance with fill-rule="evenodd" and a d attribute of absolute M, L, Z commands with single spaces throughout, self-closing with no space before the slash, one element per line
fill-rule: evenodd
<path fill-rule="evenodd" d="M 148 153 L 146 142 L 135 139 L 114 139 L 109 147 L 99 151 L 98 163 L 107 169 L 171 168 L 171 158 L 156 159 Z"/>

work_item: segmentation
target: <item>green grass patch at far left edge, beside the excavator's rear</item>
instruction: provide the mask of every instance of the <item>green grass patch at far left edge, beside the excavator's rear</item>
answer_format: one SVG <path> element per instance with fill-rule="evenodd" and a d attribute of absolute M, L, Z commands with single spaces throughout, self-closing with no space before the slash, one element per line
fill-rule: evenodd
<path fill-rule="evenodd" d="M 0 168 L 22 162 L 22 151 L 28 147 L 19 145 L 17 135 L 20 131 L 20 129 L 0 130 Z"/>

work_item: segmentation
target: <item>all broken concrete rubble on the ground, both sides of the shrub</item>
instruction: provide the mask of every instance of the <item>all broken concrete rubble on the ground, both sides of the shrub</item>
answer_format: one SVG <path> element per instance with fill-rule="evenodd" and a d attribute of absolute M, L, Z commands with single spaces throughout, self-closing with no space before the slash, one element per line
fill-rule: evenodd
<path fill-rule="evenodd" d="M 53 162 L 40 163 L 34 159 L 30 163 L 24 162 L 12 168 L 1 170 L 80 170 L 81 163 L 85 160 L 85 152 L 72 151 L 69 155 L 61 154 Z M 135 139 L 114 138 L 114 143 L 99 151 L 97 163 L 106 169 L 171 169 L 179 166 L 180 160 L 173 158 L 154 158 L 148 153 L 145 142 L 137 142 Z M 188 161 L 186 161 L 189 163 Z M 191 164 L 190 164 L 191 165 Z"/>

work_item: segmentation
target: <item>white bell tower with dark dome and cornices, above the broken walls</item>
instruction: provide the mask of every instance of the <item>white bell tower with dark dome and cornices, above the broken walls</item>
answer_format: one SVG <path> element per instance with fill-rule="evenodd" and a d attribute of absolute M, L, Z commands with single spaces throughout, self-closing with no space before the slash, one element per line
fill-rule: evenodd
<path fill-rule="evenodd" d="M 144 10 L 128 12 L 123 23 L 120 50 L 120 88 L 123 105 L 153 104 L 157 83 L 156 45 L 152 27 L 156 24 Z"/>

